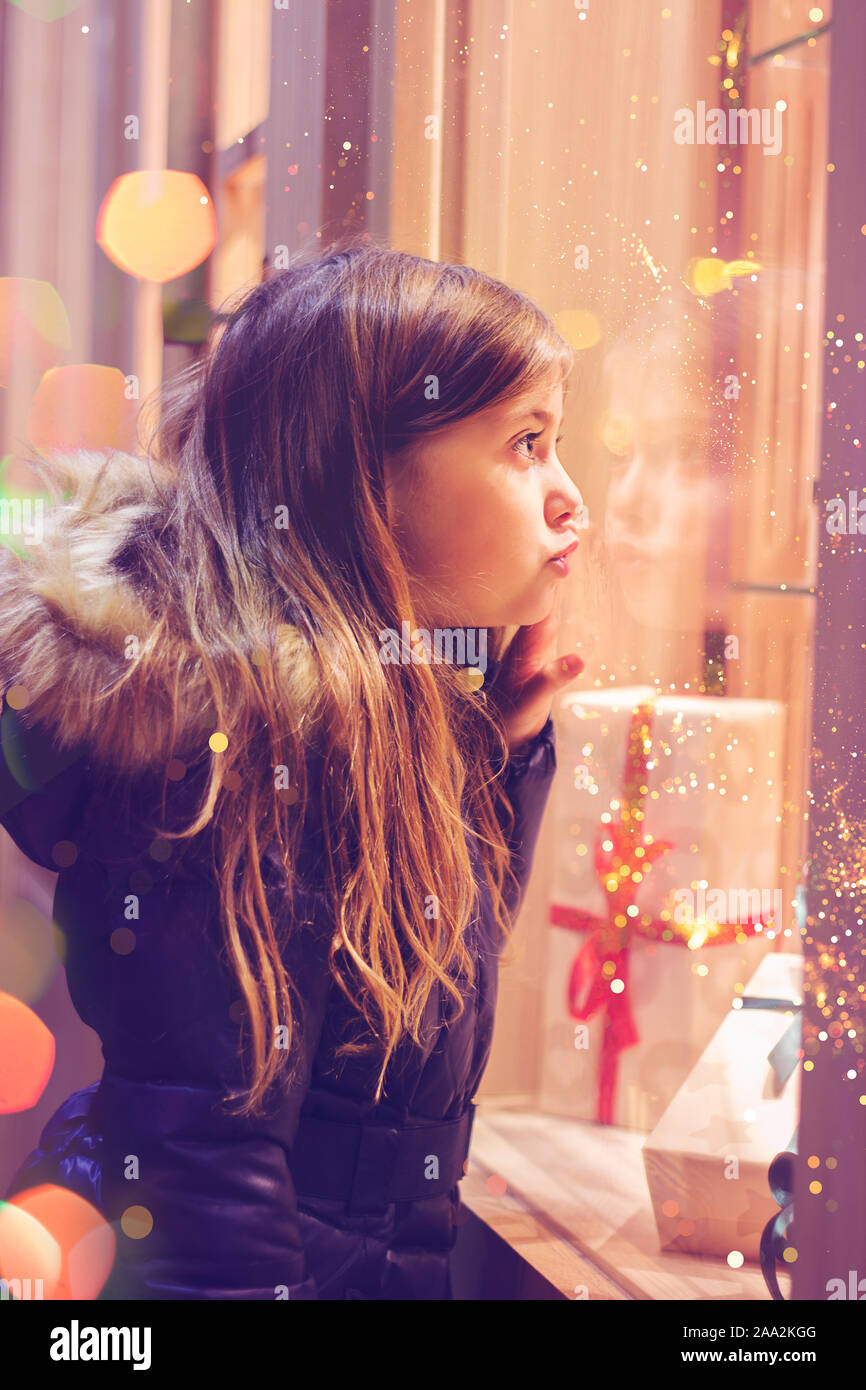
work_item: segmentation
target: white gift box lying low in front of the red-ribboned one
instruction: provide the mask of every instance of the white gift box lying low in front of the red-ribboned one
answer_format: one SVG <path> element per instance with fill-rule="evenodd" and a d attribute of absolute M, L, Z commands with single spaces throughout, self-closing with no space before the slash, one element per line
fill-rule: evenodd
<path fill-rule="evenodd" d="M 746 995 L 801 1001 L 799 954 L 767 955 Z M 794 1008 L 731 1009 L 644 1144 L 662 1250 L 759 1259 L 760 1233 L 778 1207 L 767 1169 L 799 1118 L 801 1068 L 783 1083 L 769 1054 Z M 796 1040 L 795 1040 L 796 1041 Z"/>

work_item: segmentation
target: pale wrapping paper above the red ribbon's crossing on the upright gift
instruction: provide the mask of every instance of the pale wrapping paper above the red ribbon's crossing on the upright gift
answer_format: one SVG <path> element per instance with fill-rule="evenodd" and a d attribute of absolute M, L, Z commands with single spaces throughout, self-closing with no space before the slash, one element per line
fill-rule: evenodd
<path fill-rule="evenodd" d="M 653 687 L 632 685 L 567 695 L 560 702 L 550 792 L 557 845 L 553 901 L 596 916 L 606 912 L 607 895 L 595 877 L 595 835 L 610 801 L 621 798 L 631 710 L 639 702 L 651 702 L 652 709 L 642 830 L 674 842 L 637 888 L 641 912 L 657 917 L 673 905 L 674 888 L 692 881 L 726 890 L 783 887 L 777 817 L 784 705 L 652 696 Z M 578 845 L 587 847 L 584 855 Z M 719 912 L 717 920 L 735 916 Z"/>

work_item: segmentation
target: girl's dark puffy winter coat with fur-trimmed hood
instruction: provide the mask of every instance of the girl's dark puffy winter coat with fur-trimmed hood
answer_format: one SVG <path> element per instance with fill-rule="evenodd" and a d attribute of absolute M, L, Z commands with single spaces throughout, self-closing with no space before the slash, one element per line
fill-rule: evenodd
<path fill-rule="evenodd" d="M 117 655 L 128 634 L 147 630 L 142 592 L 114 562 L 154 506 L 140 460 L 108 455 L 103 467 L 104 457 L 70 456 L 70 495 L 46 513 L 44 539 L 25 563 L 0 546 L 0 689 L 28 692 L 21 710 L 4 701 L 0 720 L 0 824 L 58 872 L 54 920 L 70 994 L 104 1055 L 101 1080 L 57 1111 L 6 1197 L 60 1183 L 114 1223 L 103 1298 L 450 1298 L 457 1180 L 496 1001 L 500 938 L 484 874 L 475 865 L 474 999 L 449 1020 L 432 991 L 428 1042 L 405 1040 L 374 1105 L 375 1056 L 334 1056 L 357 1013 L 327 969 L 332 924 L 317 887 L 314 821 L 291 901 L 265 856 L 271 910 L 293 919 L 286 966 L 304 1005 L 303 1066 L 267 1118 L 215 1108 L 243 1074 L 240 991 L 220 956 L 209 833 L 193 849 L 154 855 L 143 826 L 161 769 L 131 769 L 108 795 L 93 760 L 95 748 L 110 748 L 113 720 L 132 717 L 122 701 L 99 721 L 88 706 L 128 669 Z M 491 662 L 488 687 L 495 677 Z M 157 724 L 140 735 L 142 746 L 158 739 Z M 553 771 L 548 720 L 505 771 L 520 881 L 513 910 Z M 178 784 L 179 810 L 195 790 L 193 771 Z M 124 915 L 129 894 L 140 903 L 133 922 Z M 132 1205 L 153 1218 L 143 1238 L 121 1230 Z"/>

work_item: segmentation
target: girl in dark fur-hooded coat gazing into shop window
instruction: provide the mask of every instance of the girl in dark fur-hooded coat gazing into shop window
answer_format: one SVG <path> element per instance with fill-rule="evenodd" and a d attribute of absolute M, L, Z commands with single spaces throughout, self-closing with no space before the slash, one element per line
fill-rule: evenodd
<path fill-rule="evenodd" d="M 103 1298 L 452 1297 L 582 664 L 571 356 L 506 285 L 350 243 L 245 295 L 149 457 L 39 464 L 44 542 L 0 550 L 0 823 L 58 870 L 106 1065 L 7 1197 L 114 1223 Z"/>

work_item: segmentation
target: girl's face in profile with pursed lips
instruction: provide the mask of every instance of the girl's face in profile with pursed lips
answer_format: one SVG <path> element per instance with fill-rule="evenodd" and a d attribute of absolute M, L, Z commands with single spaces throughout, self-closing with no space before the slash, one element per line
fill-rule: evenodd
<path fill-rule="evenodd" d="M 559 378 L 386 460 L 388 509 L 430 627 L 538 623 L 567 570 L 582 498 L 556 456 Z"/>

